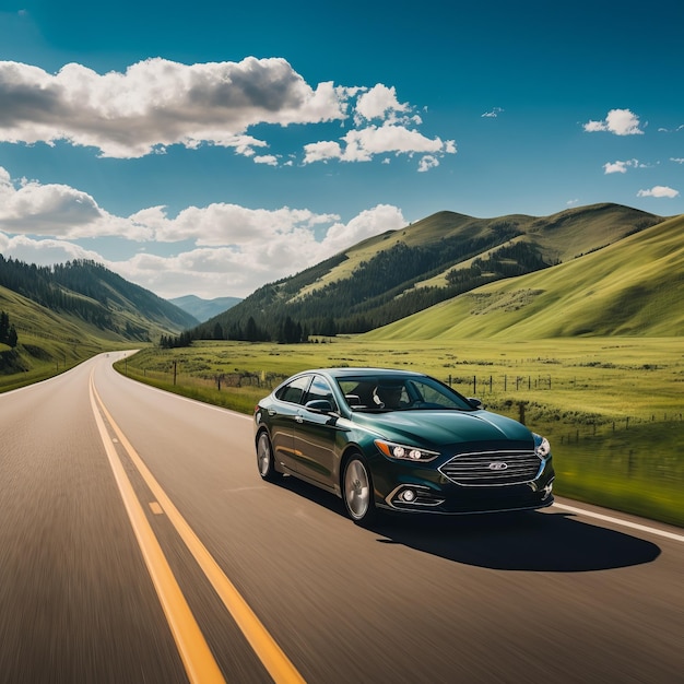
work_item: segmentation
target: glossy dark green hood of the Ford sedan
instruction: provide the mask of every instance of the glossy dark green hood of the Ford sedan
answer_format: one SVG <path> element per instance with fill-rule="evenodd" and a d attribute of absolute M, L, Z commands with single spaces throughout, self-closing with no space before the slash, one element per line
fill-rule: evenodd
<path fill-rule="evenodd" d="M 521 441 L 527 447 L 532 446 L 532 435 L 524 425 L 488 411 L 357 413 L 354 423 L 378 432 L 386 439 L 406 440 L 415 446 L 441 447 L 477 441 Z"/>

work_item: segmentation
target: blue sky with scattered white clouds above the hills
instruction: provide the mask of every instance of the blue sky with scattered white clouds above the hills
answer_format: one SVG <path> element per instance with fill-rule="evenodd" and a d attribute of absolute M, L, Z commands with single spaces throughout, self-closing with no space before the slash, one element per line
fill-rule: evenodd
<path fill-rule="evenodd" d="M 684 213 L 684 4 L 0 1 L 0 252 L 246 296 L 443 210 Z"/>

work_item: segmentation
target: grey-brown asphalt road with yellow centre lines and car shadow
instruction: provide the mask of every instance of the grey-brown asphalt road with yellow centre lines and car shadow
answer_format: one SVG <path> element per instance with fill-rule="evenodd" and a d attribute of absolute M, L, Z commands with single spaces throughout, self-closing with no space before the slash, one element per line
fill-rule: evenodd
<path fill-rule="evenodd" d="M 362 529 L 115 356 L 0 394 L 0 682 L 684 680 L 684 530 L 569 500 Z"/>

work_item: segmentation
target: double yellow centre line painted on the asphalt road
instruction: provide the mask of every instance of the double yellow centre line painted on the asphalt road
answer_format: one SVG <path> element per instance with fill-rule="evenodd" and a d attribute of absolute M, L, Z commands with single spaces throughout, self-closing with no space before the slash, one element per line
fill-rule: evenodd
<path fill-rule="evenodd" d="M 91 374 L 90 379 L 90 394 L 95 422 L 111 470 L 190 682 L 193 684 L 213 684 L 225 682 L 225 680 L 164 556 L 145 512 L 135 496 L 133 486 L 126 475 L 103 416 L 116 433 L 119 443 L 150 487 L 156 498 L 156 504 L 166 514 L 273 681 L 276 684 L 304 684 L 304 679 L 299 672 L 267 632 L 233 582 L 225 576 L 213 556 L 207 551 L 143 463 L 126 435 L 114 422 L 95 389 L 93 374 Z"/>

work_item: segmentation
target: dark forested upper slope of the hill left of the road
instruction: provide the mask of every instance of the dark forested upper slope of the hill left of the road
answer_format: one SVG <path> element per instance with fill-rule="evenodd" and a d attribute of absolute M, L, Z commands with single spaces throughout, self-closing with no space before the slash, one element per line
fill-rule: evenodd
<path fill-rule="evenodd" d="M 105 340 L 157 341 L 162 334 L 177 333 L 199 322 L 95 261 L 37 267 L 0 255 L 0 287 L 47 310 L 52 320 L 68 321 L 84 333 Z M 17 302 L 13 320 L 21 321 L 22 309 L 26 307 Z M 17 332 L 21 341 L 21 325 Z"/>

